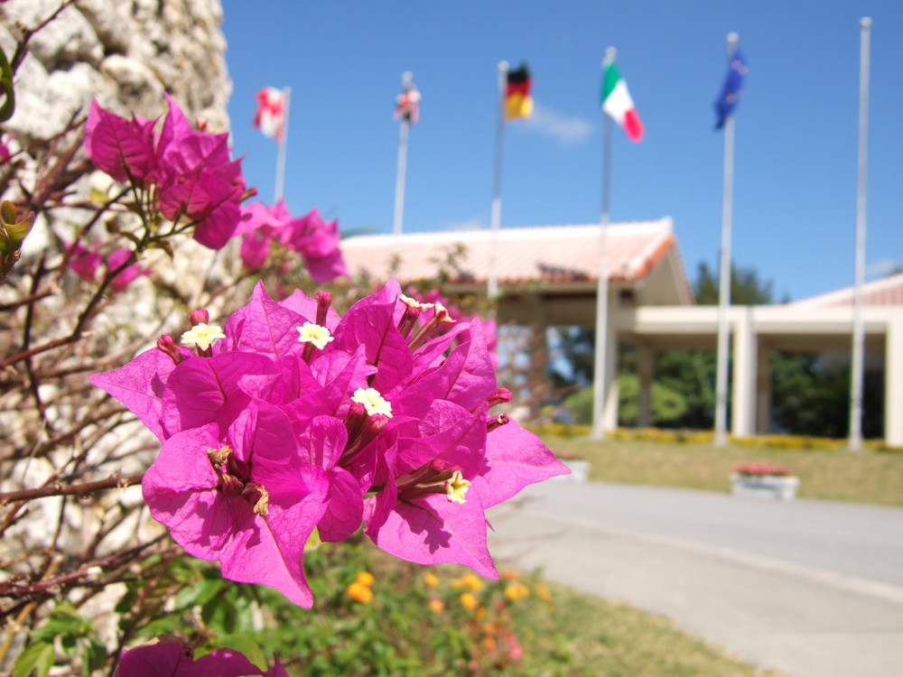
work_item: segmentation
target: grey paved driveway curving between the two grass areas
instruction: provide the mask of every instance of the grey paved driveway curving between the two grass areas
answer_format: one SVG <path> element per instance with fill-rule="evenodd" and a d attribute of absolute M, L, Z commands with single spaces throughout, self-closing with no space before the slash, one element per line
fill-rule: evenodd
<path fill-rule="evenodd" d="M 796 677 L 903 677 L 903 509 L 545 482 L 489 511 L 496 559 L 671 617 Z"/>

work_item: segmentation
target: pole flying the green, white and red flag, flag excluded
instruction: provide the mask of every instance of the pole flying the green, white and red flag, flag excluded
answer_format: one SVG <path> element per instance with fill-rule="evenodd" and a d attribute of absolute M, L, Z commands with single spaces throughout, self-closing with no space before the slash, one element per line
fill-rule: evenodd
<path fill-rule="evenodd" d="M 605 69 L 615 61 L 617 51 L 610 47 L 602 61 L 602 79 Z M 607 362 L 606 334 L 609 330 L 609 262 L 608 239 L 610 220 L 611 185 L 611 117 L 602 113 L 602 204 L 599 217 L 599 266 L 596 284 L 596 345 L 592 376 L 592 430 L 590 439 L 605 439 L 605 367 Z"/>

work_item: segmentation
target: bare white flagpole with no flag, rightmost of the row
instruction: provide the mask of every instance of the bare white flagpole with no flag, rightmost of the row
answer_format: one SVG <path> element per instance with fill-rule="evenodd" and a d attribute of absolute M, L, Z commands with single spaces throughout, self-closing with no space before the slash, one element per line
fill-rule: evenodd
<path fill-rule="evenodd" d="M 851 451 L 862 450 L 862 383 L 865 361 L 865 326 L 862 320 L 862 284 L 865 282 L 865 197 L 869 151 L 869 38 L 871 19 L 860 21 L 859 51 L 859 172 L 856 187 L 856 286 L 852 302 L 852 379 L 850 384 Z"/>

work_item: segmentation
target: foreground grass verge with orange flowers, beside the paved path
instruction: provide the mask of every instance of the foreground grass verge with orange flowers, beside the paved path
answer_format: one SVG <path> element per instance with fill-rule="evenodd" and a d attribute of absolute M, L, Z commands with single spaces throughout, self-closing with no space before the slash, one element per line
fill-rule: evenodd
<path fill-rule="evenodd" d="M 485 580 L 463 567 L 399 561 L 367 544 L 355 558 L 374 576 L 374 597 L 360 604 L 342 595 L 324 596 L 302 622 L 329 628 L 329 639 L 319 647 L 328 647 L 327 654 L 290 666 L 290 672 L 378 674 L 374 667 L 380 665 L 387 674 L 418 677 L 784 677 L 725 654 L 664 617 L 549 583 L 538 573 L 502 570 L 500 580 Z M 321 573 L 334 576 L 330 587 L 340 590 L 353 569 L 343 558 Z M 464 603 L 466 595 L 472 605 Z M 352 618 L 353 635 L 332 634 Z M 511 658 L 511 637 L 523 650 L 518 659 Z M 337 670 L 335 651 L 343 645 L 349 654 Z M 389 654 L 394 658 L 385 660 Z M 301 672 L 294 672 L 297 668 Z"/>

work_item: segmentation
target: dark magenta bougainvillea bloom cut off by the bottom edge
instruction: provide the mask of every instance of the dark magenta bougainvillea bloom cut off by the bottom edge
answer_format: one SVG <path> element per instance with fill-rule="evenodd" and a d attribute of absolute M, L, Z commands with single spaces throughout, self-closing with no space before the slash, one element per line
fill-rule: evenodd
<path fill-rule="evenodd" d="M 123 652 L 114 677 L 288 677 L 279 660 L 263 672 L 244 654 L 217 649 L 194 660 L 191 649 L 177 642 L 136 646 Z"/>

